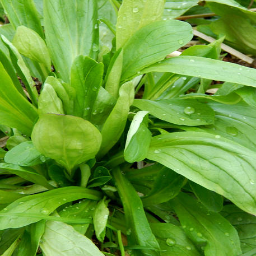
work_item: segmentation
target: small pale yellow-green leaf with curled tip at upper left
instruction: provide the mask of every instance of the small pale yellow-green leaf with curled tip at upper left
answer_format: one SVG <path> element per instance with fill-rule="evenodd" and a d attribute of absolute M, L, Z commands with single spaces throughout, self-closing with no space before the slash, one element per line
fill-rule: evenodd
<path fill-rule="evenodd" d="M 22 55 L 43 64 L 50 72 L 50 55 L 45 41 L 34 30 L 18 26 L 12 44 Z"/>

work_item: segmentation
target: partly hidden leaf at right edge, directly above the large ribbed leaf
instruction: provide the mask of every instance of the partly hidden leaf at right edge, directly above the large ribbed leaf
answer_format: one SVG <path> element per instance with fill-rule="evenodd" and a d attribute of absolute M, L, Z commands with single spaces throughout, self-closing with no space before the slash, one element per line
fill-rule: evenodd
<path fill-rule="evenodd" d="M 204 131 L 219 134 L 255 151 L 256 108 L 245 103 L 226 105 L 210 102 L 216 119 L 212 125 L 202 127 Z"/>

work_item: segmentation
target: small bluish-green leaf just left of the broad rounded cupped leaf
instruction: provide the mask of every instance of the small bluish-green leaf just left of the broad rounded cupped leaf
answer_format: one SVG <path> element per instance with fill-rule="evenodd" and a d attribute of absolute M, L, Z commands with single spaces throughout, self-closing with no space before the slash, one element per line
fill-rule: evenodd
<path fill-rule="evenodd" d="M 4 161 L 20 166 L 32 166 L 42 164 L 43 157 L 41 156 L 32 141 L 25 141 L 8 151 L 4 156 Z"/>

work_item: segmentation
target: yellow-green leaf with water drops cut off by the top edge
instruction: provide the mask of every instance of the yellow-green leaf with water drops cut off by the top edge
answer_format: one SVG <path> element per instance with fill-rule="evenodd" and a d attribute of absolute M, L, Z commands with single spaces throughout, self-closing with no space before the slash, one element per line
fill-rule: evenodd
<path fill-rule="evenodd" d="M 164 0 L 123 0 L 117 18 L 117 49 L 142 27 L 161 20 L 164 11 Z"/>

